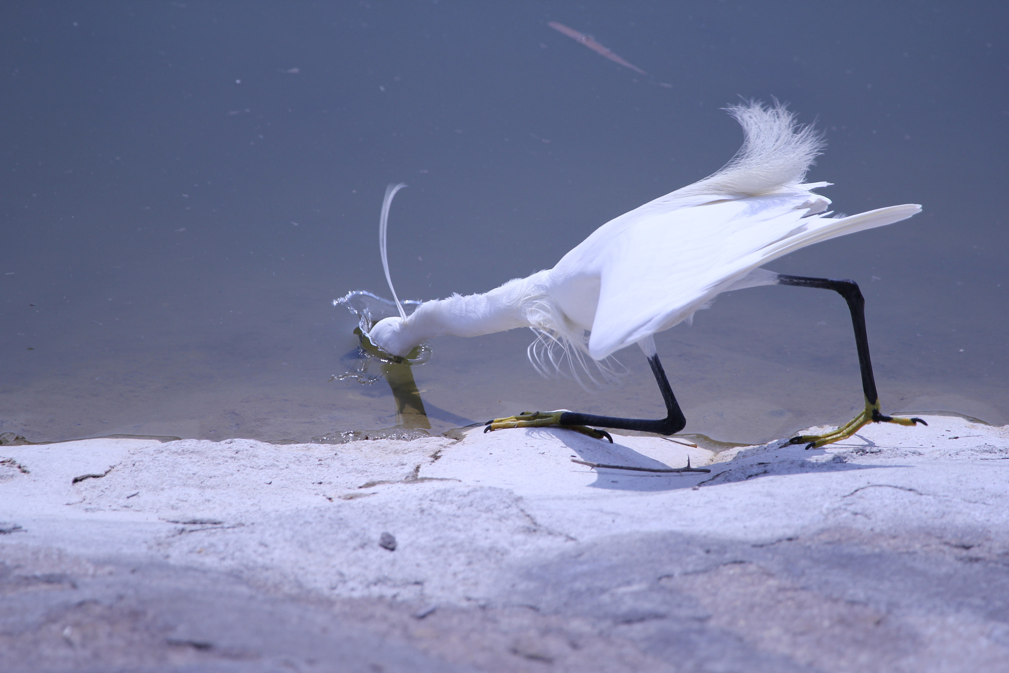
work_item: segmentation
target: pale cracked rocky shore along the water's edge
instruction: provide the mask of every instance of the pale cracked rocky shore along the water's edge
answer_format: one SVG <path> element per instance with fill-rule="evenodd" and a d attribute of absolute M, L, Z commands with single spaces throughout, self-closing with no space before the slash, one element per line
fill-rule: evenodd
<path fill-rule="evenodd" d="M 926 420 L 0 446 L 0 668 L 1004 671 L 1009 426 Z"/>

